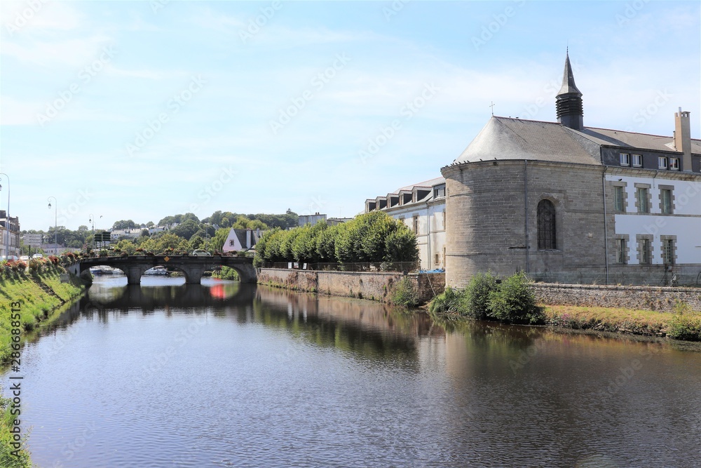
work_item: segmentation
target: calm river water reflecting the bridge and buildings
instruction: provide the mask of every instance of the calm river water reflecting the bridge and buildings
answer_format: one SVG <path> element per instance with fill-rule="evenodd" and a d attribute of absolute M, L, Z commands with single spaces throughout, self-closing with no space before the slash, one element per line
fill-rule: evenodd
<path fill-rule="evenodd" d="M 692 467 L 701 354 L 123 277 L 22 354 L 39 467 Z M 7 385 L 7 377 L 4 384 Z"/>

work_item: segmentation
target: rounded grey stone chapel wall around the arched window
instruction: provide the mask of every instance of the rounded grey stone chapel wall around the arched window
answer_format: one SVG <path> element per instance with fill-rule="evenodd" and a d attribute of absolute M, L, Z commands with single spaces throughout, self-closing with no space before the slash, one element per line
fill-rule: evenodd
<path fill-rule="evenodd" d="M 444 169 L 446 282 L 477 272 L 604 274 L 603 169 L 546 161 L 484 161 Z M 538 249 L 537 207 L 555 208 L 556 248 Z"/>

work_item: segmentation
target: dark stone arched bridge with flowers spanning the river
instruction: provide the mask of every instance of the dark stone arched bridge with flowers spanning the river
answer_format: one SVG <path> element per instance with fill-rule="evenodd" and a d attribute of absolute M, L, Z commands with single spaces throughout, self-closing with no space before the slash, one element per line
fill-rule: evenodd
<path fill-rule="evenodd" d="M 105 265 L 107 267 L 121 269 L 127 276 L 128 284 L 139 284 L 141 276 L 153 267 L 173 267 L 183 272 L 186 283 L 199 283 L 204 272 L 216 267 L 229 267 L 238 272 L 242 283 L 256 282 L 256 269 L 253 267 L 253 259 L 250 257 L 194 257 L 188 255 L 130 255 L 128 257 L 99 257 L 82 258 L 72 265 L 72 273 L 78 276 L 86 276 L 90 267 Z"/>

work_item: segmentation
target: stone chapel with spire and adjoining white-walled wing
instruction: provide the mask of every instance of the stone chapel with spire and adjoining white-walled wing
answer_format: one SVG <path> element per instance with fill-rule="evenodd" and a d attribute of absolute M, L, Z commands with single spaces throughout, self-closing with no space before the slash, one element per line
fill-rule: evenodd
<path fill-rule="evenodd" d="M 694 283 L 701 140 L 586 127 L 569 56 L 557 123 L 493 116 L 442 168 L 446 282 L 526 272 L 563 283 Z M 366 202 L 367 207 L 367 202 Z"/>

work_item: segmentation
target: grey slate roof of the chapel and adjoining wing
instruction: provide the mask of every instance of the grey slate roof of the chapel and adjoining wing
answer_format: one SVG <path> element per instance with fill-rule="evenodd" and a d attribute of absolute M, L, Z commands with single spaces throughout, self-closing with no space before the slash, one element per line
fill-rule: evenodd
<path fill-rule="evenodd" d="M 673 138 L 585 127 L 576 131 L 560 123 L 492 116 L 454 163 L 528 159 L 601 166 L 601 146 L 674 151 Z M 701 140 L 691 140 L 701 154 Z"/>

